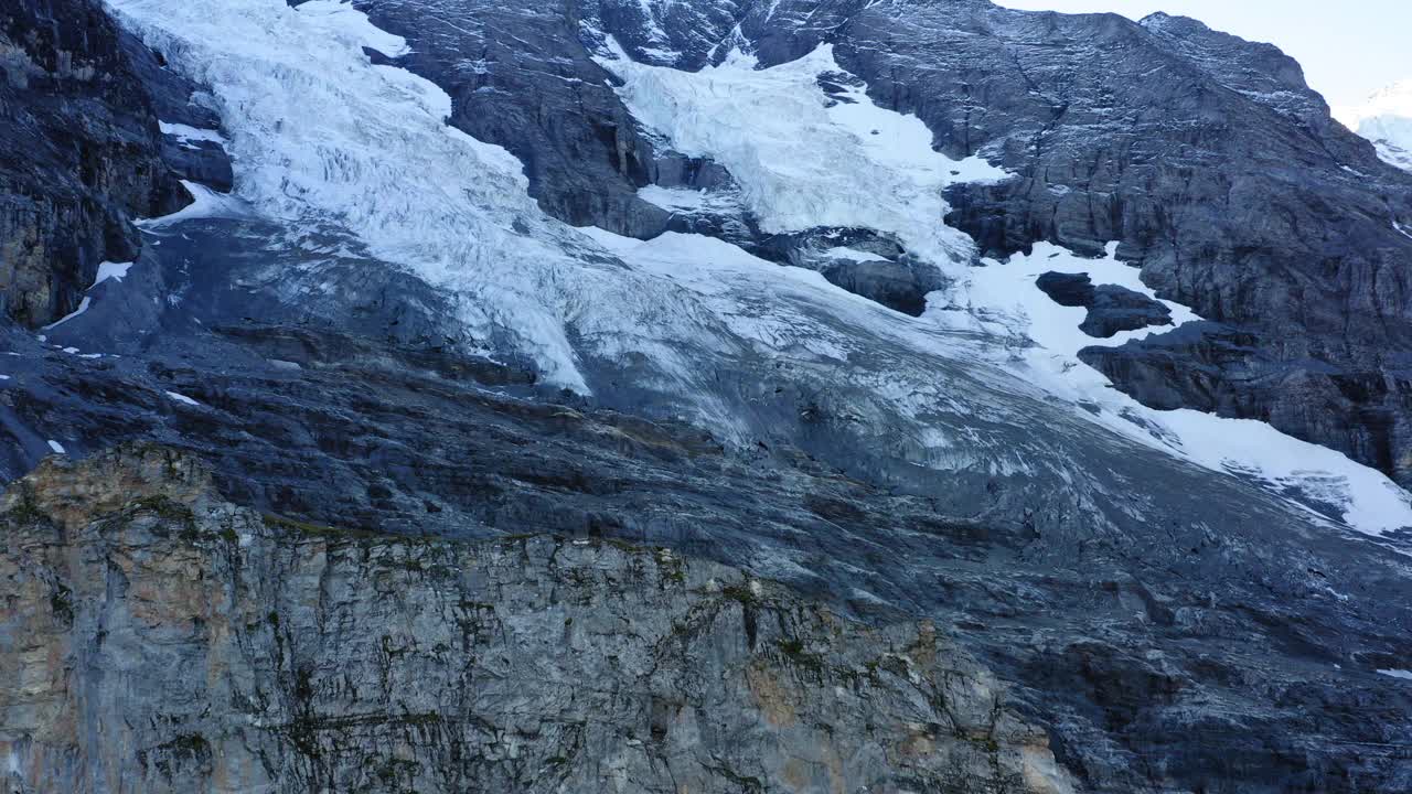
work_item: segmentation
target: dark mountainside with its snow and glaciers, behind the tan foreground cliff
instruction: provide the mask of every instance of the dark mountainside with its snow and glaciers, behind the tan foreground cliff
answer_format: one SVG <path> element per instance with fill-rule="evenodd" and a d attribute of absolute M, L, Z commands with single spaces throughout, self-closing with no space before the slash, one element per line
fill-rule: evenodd
<path fill-rule="evenodd" d="M 145 93 L 30 44 L 55 82 L 0 95 L 79 174 L 0 161 L 6 475 L 157 439 L 299 521 L 940 619 L 1051 726 L 1034 791 L 1406 781 L 1363 749 L 1412 736 L 1412 179 L 1276 49 L 984 0 L 21 1 Z"/>

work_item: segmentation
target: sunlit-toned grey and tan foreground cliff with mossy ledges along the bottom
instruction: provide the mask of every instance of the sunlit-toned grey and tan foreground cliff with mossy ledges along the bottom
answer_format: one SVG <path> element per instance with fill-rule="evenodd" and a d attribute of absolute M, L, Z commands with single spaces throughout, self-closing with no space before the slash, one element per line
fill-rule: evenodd
<path fill-rule="evenodd" d="M 665 548 L 301 524 L 155 446 L 0 510 L 6 791 L 1073 791 L 932 623 Z"/>

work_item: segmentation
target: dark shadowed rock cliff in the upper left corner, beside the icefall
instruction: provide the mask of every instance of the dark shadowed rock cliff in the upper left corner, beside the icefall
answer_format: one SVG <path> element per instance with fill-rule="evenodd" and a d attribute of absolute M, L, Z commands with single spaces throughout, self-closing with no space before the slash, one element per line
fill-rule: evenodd
<path fill-rule="evenodd" d="M 133 261 L 134 218 L 191 201 L 162 161 L 140 48 L 96 0 L 0 10 L 0 308 L 35 326 L 79 305 L 99 263 Z M 148 55 L 150 57 L 150 55 Z"/>

